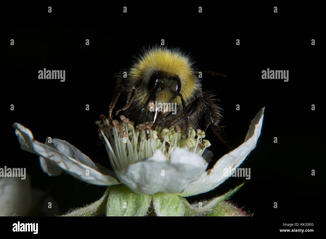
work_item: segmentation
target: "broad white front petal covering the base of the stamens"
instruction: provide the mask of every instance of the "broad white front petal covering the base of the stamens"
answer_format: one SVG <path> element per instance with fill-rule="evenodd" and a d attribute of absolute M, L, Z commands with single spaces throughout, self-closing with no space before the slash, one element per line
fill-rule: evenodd
<path fill-rule="evenodd" d="M 202 157 L 185 149 L 176 148 L 172 158 L 169 161 L 160 150 L 156 150 L 153 157 L 129 164 L 115 173 L 136 193 L 180 193 L 207 168 L 207 162 Z"/>

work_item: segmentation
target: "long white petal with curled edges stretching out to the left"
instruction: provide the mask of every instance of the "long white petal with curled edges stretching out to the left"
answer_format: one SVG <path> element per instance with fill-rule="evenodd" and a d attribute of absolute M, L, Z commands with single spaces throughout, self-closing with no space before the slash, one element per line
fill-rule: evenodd
<path fill-rule="evenodd" d="M 112 176 L 100 172 L 98 167 L 89 157 L 84 155 L 68 142 L 52 139 L 52 142 L 54 141 L 56 144 L 55 148 L 53 148 L 34 140 L 33 135 L 28 128 L 25 128 L 18 123 L 14 123 L 13 127 L 16 129 L 16 135 L 21 144 L 21 149 L 37 154 L 48 162 L 67 171 L 75 178 L 96 185 L 120 184 Z M 89 170 L 89 175 L 86 175 L 86 170 Z"/>

